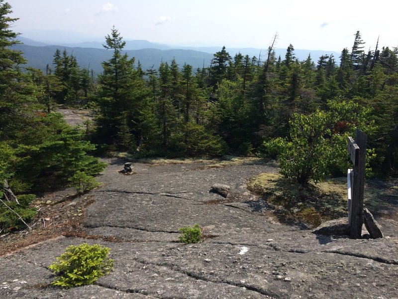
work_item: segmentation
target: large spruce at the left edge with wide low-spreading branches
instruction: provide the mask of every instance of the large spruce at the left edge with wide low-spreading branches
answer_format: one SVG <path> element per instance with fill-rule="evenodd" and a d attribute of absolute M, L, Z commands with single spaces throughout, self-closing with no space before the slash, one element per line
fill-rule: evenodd
<path fill-rule="evenodd" d="M 20 71 L 25 61 L 9 48 L 17 43 L 9 13 L 10 5 L 0 0 L 0 187 L 8 179 L 15 193 L 43 191 L 64 185 L 77 171 L 97 174 L 104 164 L 87 155 L 95 146 L 51 112 L 51 103 L 43 105 L 43 96 L 55 91 L 47 85 L 56 80 L 38 70 Z"/>

